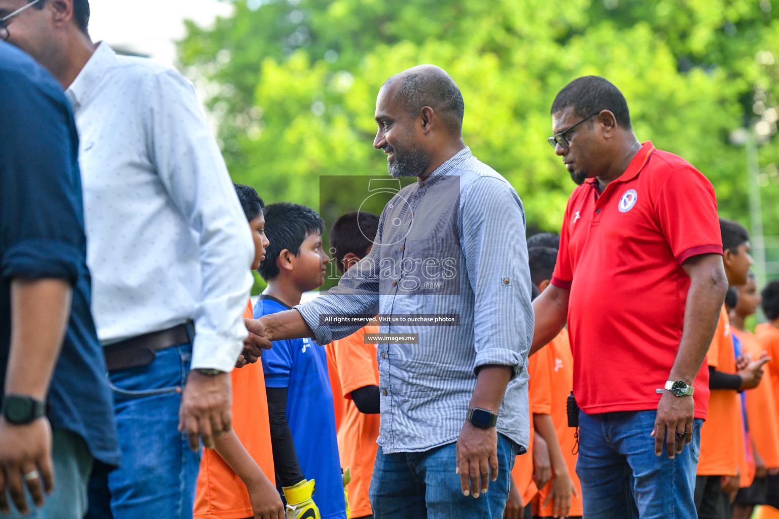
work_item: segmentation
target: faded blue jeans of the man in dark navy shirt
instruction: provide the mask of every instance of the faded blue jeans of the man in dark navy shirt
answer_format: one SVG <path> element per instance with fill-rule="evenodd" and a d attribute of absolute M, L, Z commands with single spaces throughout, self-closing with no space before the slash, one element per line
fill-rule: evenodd
<path fill-rule="evenodd" d="M 86 512 L 86 483 L 90 479 L 92 454 L 86 441 L 65 429 L 51 432 L 51 460 L 54 462 L 54 491 L 44 495 L 44 506 L 37 508 L 24 487 L 30 514 L 23 516 L 13 504 L 10 495 L 9 514 L 0 513 L 0 519 L 81 519 Z"/>

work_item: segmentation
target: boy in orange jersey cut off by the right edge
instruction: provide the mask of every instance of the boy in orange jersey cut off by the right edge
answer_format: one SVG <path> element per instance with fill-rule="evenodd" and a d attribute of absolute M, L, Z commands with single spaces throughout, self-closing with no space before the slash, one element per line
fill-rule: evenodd
<path fill-rule="evenodd" d="M 774 386 L 774 402 L 779 406 L 779 281 L 772 281 L 763 287 L 761 306 L 768 322 L 758 324 L 755 335 L 764 350 L 771 357 L 768 363 L 771 383 Z M 777 409 L 779 414 L 779 409 Z M 779 475 L 769 474 L 766 503 L 760 507 L 759 517 L 779 518 Z"/>

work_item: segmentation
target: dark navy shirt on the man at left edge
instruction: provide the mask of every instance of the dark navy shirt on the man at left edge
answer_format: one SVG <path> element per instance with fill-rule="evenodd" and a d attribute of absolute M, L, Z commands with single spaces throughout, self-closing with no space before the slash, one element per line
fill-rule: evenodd
<path fill-rule="evenodd" d="M 0 394 L 11 338 L 10 283 L 65 279 L 72 309 L 48 392 L 53 428 L 118 465 L 105 359 L 90 314 L 90 272 L 76 124 L 62 87 L 30 56 L 0 41 Z"/>

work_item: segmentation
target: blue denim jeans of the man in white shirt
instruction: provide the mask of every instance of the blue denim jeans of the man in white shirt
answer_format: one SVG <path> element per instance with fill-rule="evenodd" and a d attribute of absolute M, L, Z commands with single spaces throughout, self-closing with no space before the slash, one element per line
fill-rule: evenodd
<path fill-rule="evenodd" d="M 191 358 L 192 345 L 179 345 L 110 373 L 122 465 L 90 481 L 88 519 L 191 519 L 200 454 L 178 432 Z"/>

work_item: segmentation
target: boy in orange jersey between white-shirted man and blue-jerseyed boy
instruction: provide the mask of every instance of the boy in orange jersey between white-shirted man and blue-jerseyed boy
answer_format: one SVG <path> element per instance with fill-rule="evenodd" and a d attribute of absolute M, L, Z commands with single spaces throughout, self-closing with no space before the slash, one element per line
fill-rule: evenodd
<path fill-rule="evenodd" d="M 252 270 L 265 259 L 263 199 L 249 186 L 235 184 L 255 246 Z M 244 317 L 253 317 L 247 301 Z M 233 389 L 232 430 L 203 449 L 195 496 L 195 519 L 283 519 L 284 504 L 275 486 L 270 444 L 268 401 L 263 364 L 245 365 L 231 373 Z"/>

